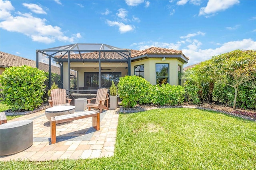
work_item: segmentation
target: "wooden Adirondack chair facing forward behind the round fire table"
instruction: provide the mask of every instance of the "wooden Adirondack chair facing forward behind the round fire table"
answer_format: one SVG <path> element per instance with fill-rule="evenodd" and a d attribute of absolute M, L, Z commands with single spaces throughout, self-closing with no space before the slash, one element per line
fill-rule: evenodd
<path fill-rule="evenodd" d="M 66 98 L 65 89 L 52 89 L 51 90 L 51 100 L 48 100 L 50 107 L 55 105 L 70 105 L 72 99 Z M 68 101 L 68 103 L 66 103 Z"/>

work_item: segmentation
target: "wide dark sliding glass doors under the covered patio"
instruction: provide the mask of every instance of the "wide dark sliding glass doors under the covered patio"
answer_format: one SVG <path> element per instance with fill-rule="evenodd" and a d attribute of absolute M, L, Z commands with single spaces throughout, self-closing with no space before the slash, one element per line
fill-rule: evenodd
<path fill-rule="evenodd" d="M 84 73 L 84 85 L 86 89 L 99 89 L 99 73 L 98 72 L 90 72 Z M 109 88 L 112 84 L 112 80 L 114 81 L 115 85 L 118 84 L 119 78 L 121 77 L 120 72 L 116 73 L 108 73 L 103 72 L 101 73 L 101 88 Z"/>

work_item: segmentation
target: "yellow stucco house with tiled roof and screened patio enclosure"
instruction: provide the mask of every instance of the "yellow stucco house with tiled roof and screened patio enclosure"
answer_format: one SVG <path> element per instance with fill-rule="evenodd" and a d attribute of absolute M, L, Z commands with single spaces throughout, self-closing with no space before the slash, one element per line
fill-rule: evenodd
<path fill-rule="evenodd" d="M 48 60 L 42 58 L 49 58 Z M 144 77 L 152 85 L 183 85 L 183 65 L 189 58 L 182 51 L 160 47 L 120 49 L 106 44 L 76 43 L 36 50 L 36 61 L 60 65 L 63 88 L 75 93 L 109 88 L 125 75 Z M 37 65 L 39 69 L 40 65 Z M 70 70 L 77 73 L 77 86 L 70 89 Z"/>

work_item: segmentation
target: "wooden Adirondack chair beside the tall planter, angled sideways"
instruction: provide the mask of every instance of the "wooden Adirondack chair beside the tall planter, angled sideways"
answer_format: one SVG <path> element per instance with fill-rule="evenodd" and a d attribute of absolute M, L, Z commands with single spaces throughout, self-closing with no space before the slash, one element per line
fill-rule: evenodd
<path fill-rule="evenodd" d="M 95 103 L 91 103 L 91 100 L 95 100 Z M 105 101 L 107 101 L 107 105 L 105 106 Z M 98 89 L 96 98 L 87 99 L 88 111 L 92 108 L 100 109 L 100 113 L 102 113 L 102 109 L 108 110 L 108 89 Z"/>

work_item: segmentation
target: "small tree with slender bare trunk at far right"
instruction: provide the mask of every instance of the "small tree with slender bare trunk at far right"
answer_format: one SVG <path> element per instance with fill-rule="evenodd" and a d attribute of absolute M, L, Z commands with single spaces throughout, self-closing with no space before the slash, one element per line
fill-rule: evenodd
<path fill-rule="evenodd" d="M 256 51 L 234 50 L 212 57 L 208 64 L 211 67 L 210 74 L 214 81 L 234 88 L 233 109 L 236 109 L 239 86 L 255 82 Z"/>

